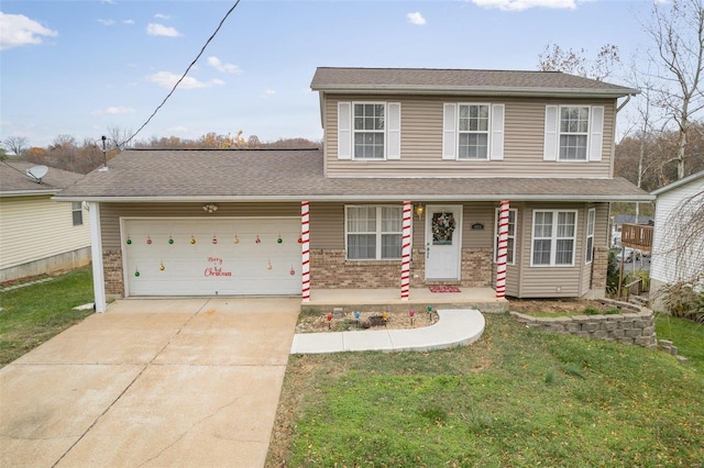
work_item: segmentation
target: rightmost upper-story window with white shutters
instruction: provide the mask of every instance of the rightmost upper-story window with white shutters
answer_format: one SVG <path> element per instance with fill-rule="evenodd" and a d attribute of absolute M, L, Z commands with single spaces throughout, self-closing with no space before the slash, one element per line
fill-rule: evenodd
<path fill-rule="evenodd" d="M 544 160 L 602 160 L 603 105 L 546 105 Z"/>

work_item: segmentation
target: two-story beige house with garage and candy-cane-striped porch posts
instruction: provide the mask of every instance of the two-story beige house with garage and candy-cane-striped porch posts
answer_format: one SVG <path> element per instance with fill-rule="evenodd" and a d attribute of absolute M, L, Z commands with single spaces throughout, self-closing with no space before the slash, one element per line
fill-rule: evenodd
<path fill-rule="evenodd" d="M 373 68 L 319 68 L 311 88 L 322 149 L 127 151 L 59 194 L 91 207 L 98 310 L 105 294 L 492 288 L 501 202 L 508 296 L 600 297 L 609 202 L 653 199 L 613 177 L 635 89 Z"/>

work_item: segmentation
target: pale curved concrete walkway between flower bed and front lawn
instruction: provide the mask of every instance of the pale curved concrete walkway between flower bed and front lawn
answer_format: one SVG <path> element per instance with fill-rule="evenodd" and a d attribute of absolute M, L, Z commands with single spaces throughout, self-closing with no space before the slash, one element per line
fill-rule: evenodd
<path fill-rule="evenodd" d="M 290 354 L 320 354 L 359 350 L 444 349 L 469 345 L 484 332 L 484 315 L 477 310 L 439 310 L 439 321 L 413 330 L 381 330 L 294 335 Z"/>

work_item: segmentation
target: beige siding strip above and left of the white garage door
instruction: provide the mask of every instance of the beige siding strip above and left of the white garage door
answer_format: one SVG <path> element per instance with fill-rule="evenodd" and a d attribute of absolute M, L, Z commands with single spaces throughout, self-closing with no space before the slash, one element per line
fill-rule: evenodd
<path fill-rule="evenodd" d="M 202 205 L 204 203 L 100 203 L 102 246 L 120 246 L 120 218 L 211 220 L 237 216 L 300 216 L 300 203 L 218 203 L 218 211 L 212 214 L 207 214 Z"/>

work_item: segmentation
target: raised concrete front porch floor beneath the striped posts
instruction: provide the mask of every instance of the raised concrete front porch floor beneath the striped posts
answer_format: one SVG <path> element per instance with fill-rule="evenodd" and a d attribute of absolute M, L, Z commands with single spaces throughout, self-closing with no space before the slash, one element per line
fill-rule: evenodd
<path fill-rule="evenodd" d="M 310 300 L 300 304 L 301 311 L 317 310 L 323 313 L 341 309 L 350 312 L 404 312 L 418 313 L 437 309 L 476 309 L 480 312 L 506 312 L 508 300 L 496 298 L 493 288 L 459 288 L 460 292 L 431 292 L 429 288 L 411 288 L 404 300 L 398 288 L 384 289 L 314 289 Z"/>

